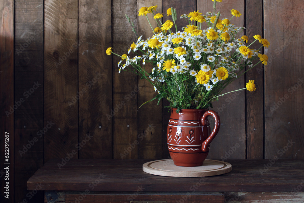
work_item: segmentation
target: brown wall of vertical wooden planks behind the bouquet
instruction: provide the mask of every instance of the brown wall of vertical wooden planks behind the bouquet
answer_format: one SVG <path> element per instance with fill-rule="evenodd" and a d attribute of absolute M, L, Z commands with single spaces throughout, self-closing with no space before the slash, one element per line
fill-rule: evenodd
<path fill-rule="evenodd" d="M 0 141 L 4 154 L 4 132 L 9 132 L 10 160 L 14 158 L 10 202 L 43 199 L 42 193 L 29 199 L 26 181 L 49 159 L 62 159 L 57 166 L 64 167 L 78 158 L 169 157 L 168 101 L 157 106 L 154 100 L 138 109 L 155 96 L 154 89 L 135 74 L 118 73 L 120 58 L 105 54 L 108 47 L 127 54 L 137 40 L 125 14 L 139 36 L 152 36 L 147 19 L 137 12 L 152 5 L 165 14 L 163 22 L 171 19 L 167 9 L 175 7 L 179 29 L 186 25 L 181 14 L 213 10 L 210 0 L 1 1 Z M 271 45 L 261 49 L 268 66 L 256 66 L 226 91 L 242 88 L 250 79 L 257 90 L 231 93 L 214 103 L 222 125 L 209 159 L 303 159 L 304 17 L 299 5 L 300 0 L 217 3 L 222 17 L 231 17 L 230 9 L 242 13 L 231 22 L 247 27 L 248 43 L 260 34 Z M 156 27 L 151 15 L 149 19 Z M 24 101 L 6 116 L 20 99 Z M 3 161 L 1 155 L 0 170 Z"/>

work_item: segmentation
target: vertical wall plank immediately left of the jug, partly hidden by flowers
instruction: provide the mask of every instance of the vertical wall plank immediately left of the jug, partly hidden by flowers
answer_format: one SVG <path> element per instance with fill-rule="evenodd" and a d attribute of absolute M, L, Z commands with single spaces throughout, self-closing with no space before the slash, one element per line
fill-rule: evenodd
<path fill-rule="evenodd" d="M 161 0 L 138 0 L 137 11 L 143 6 L 157 5 L 156 12 L 162 12 Z M 155 13 L 155 12 L 154 12 Z M 153 14 L 147 15 L 153 28 L 158 27 L 156 21 L 153 18 Z M 139 35 L 143 35 L 143 39 L 152 37 L 153 32 L 148 23 L 146 16 L 137 17 L 137 30 Z M 152 66 L 150 64 L 145 65 L 145 69 L 151 72 Z M 140 91 L 138 92 L 138 107 L 144 102 L 155 97 L 156 93 L 151 84 L 145 80 L 140 80 L 138 77 L 138 86 Z M 148 104 L 143 105 L 138 110 L 138 134 L 143 133 L 145 137 L 139 141 L 138 145 L 138 158 L 140 159 L 161 159 L 163 150 L 163 135 L 162 135 L 162 102 L 157 106 L 157 101 L 154 100 Z M 153 128 L 153 130 L 151 130 Z"/>

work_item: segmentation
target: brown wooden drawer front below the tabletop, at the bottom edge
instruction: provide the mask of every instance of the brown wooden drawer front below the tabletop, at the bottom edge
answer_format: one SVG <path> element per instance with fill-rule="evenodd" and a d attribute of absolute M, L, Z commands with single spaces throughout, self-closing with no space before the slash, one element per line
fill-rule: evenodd
<path fill-rule="evenodd" d="M 141 188 L 140 188 L 141 189 Z M 139 190 L 138 193 L 141 191 Z M 75 198 L 78 199 L 80 194 L 66 194 L 65 202 L 74 203 Z M 208 202 L 208 203 L 224 203 L 225 196 L 223 194 L 192 194 L 192 195 L 183 195 L 183 194 L 88 194 L 83 200 L 82 203 L 97 203 L 97 202 L 108 202 L 108 203 L 120 203 L 120 202 L 132 202 L 132 201 L 142 201 L 142 202 L 166 202 L 166 203 L 175 203 L 175 202 Z M 134 203 L 135 203 L 134 202 Z"/>

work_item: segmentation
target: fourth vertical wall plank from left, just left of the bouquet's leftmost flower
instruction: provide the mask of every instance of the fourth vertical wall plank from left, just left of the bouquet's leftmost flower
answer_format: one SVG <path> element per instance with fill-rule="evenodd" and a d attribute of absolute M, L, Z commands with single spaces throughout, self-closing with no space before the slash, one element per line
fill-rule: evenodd
<path fill-rule="evenodd" d="M 79 158 L 112 158 L 111 34 L 111 0 L 79 0 Z"/>

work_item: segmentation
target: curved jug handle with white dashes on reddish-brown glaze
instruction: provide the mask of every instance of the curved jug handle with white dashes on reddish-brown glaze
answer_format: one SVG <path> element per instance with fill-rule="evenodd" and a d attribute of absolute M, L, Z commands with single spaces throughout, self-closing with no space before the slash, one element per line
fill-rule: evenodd
<path fill-rule="evenodd" d="M 215 111 L 213 110 L 208 110 L 205 112 L 205 114 L 202 116 L 201 118 L 201 122 L 202 125 L 205 126 L 206 125 L 206 120 L 208 118 L 208 116 L 212 116 L 215 120 L 215 125 L 213 128 L 212 133 L 209 135 L 209 137 L 202 143 L 202 151 L 203 152 L 208 152 L 209 151 L 209 145 L 212 142 L 212 140 L 215 138 L 215 136 L 217 135 L 217 133 L 219 132 L 219 127 L 221 124 L 221 120 L 219 118 L 219 114 L 217 114 Z"/>

